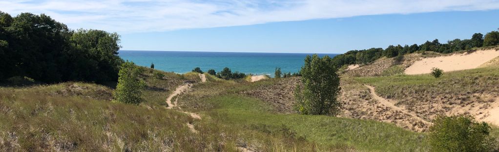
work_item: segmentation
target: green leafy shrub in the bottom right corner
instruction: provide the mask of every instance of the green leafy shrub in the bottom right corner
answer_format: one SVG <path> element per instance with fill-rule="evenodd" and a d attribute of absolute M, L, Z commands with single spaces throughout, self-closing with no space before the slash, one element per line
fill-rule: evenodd
<path fill-rule="evenodd" d="M 470 116 L 438 116 L 430 127 L 429 144 L 433 152 L 491 152 L 491 127 Z"/>

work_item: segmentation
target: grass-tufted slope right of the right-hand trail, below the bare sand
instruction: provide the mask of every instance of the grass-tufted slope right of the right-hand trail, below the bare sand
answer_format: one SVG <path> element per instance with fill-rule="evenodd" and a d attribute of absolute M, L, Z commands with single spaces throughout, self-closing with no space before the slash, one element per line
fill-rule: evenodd
<path fill-rule="evenodd" d="M 423 74 L 360 77 L 354 80 L 375 86 L 377 94 L 398 101 L 398 105 L 428 120 L 437 114 L 449 114 L 453 109 L 466 108 L 471 104 L 487 108 L 499 96 L 499 67 L 446 72 L 438 79 Z"/>

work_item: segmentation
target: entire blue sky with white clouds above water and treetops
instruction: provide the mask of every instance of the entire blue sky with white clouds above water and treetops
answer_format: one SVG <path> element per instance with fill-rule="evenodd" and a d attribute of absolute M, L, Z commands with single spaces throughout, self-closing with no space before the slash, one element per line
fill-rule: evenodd
<path fill-rule="evenodd" d="M 343 53 L 470 38 L 498 0 L 0 0 L 68 27 L 122 35 L 122 50 Z"/>

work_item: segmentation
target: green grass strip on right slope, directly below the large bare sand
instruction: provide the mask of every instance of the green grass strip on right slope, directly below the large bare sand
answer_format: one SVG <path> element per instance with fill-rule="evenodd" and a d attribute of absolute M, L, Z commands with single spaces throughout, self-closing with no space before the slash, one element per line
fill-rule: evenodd
<path fill-rule="evenodd" d="M 459 96 L 474 93 L 499 95 L 499 67 L 445 72 L 440 78 L 430 74 L 397 75 L 388 77 L 360 77 L 355 80 L 376 86 L 376 93 L 394 99 L 426 94 Z"/>

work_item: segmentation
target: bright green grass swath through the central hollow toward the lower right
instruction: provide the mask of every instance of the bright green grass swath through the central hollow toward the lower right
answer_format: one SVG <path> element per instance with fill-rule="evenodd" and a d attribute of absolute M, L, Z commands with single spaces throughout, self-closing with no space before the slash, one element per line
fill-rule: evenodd
<path fill-rule="evenodd" d="M 279 80 L 269 79 L 238 84 L 230 81 L 198 84 L 193 87 L 194 92 L 186 94 L 179 101 L 185 104 L 183 108 L 208 115 L 209 121 L 230 125 L 232 129 L 284 136 L 280 131 L 282 128 L 287 128 L 295 134 L 293 137 L 304 138 L 323 151 L 357 149 L 380 152 L 424 152 L 428 150 L 424 141 L 425 134 L 404 130 L 392 124 L 328 116 L 278 114 L 267 103 L 239 94 L 241 91 L 270 85 L 276 81 Z"/>

